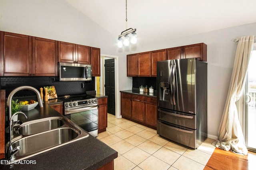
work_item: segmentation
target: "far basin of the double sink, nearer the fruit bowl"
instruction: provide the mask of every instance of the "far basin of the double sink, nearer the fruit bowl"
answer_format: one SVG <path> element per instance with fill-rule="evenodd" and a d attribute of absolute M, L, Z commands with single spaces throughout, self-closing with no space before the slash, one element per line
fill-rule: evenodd
<path fill-rule="evenodd" d="M 34 121 L 28 121 L 20 125 L 18 132 L 21 135 L 34 135 L 45 131 L 50 131 L 63 126 L 63 117 L 47 117 Z"/>

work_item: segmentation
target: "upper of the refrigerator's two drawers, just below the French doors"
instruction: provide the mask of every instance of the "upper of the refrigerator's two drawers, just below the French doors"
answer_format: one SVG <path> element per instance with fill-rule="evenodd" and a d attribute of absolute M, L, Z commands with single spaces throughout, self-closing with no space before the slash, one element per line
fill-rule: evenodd
<path fill-rule="evenodd" d="M 158 108 L 157 119 L 190 129 L 196 129 L 196 115 Z"/>

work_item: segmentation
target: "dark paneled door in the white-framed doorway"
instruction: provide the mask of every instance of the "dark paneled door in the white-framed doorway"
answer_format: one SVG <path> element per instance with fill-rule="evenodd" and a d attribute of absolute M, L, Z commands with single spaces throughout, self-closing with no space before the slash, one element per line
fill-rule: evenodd
<path fill-rule="evenodd" d="M 115 60 L 105 60 L 105 95 L 108 96 L 108 113 L 115 115 Z"/>

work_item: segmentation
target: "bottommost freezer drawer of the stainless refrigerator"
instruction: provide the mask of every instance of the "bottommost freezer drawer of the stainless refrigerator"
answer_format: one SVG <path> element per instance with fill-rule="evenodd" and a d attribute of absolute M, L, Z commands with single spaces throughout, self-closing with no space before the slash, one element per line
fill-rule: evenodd
<path fill-rule="evenodd" d="M 158 120 L 157 133 L 174 142 L 196 149 L 196 130 Z"/>

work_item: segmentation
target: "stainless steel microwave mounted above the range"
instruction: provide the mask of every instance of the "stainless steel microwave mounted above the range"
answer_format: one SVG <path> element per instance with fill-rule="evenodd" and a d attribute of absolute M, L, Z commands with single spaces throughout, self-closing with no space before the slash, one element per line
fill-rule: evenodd
<path fill-rule="evenodd" d="M 90 64 L 59 63 L 60 81 L 90 81 L 92 66 Z"/>

